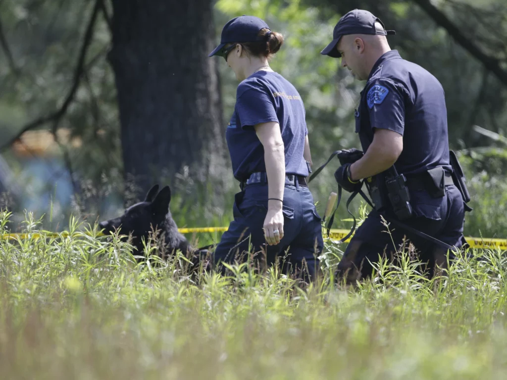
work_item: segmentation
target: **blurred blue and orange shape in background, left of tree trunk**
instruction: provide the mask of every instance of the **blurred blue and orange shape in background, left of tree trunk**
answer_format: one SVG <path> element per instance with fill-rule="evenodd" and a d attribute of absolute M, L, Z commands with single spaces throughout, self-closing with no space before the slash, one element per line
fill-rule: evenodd
<path fill-rule="evenodd" d="M 70 141 L 70 133 L 65 129 L 61 131 L 60 142 L 80 143 Z M 75 183 L 80 185 L 79 173 L 74 175 Z M 81 188 L 78 191 L 83 193 Z M 93 223 L 91 219 L 98 213 L 106 217 L 123 207 L 122 200 L 115 194 L 95 198 L 93 206 L 83 203 L 82 194 L 77 202 L 70 172 L 49 131 L 25 132 L 4 156 L 0 156 L 0 208 L 14 211 L 11 219 L 15 224 L 24 219 L 26 210 L 32 212 L 35 219 L 44 215 L 44 227 L 59 231 L 68 224 L 70 214 L 78 214 Z"/>

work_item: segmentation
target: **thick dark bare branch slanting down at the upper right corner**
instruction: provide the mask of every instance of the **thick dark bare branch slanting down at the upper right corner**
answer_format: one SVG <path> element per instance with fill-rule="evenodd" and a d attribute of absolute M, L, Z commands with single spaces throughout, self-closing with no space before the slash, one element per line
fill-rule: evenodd
<path fill-rule="evenodd" d="M 499 61 L 483 53 L 472 40 L 468 39 L 449 18 L 442 13 L 437 7 L 433 6 L 429 0 L 413 0 L 421 7 L 429 17 L 438 25 L 447 30 L 449 35 L 468 53 L 478 59 L 486 69 L 491 71 L 496 77 L 507 86 L 507 71 L 500 67 Z"/>

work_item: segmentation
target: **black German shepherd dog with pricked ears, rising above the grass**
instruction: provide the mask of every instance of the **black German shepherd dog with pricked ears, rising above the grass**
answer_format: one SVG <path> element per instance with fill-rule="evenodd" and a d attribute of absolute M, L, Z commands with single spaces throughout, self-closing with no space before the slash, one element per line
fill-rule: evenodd
<path fill-rule="evenodd" d="M 193 248 L 187 239 L 178 232 L 178 227 L 172 219 L 169 210 L 171 202 L 171 189 L 165 186 L 159 192 L 159 185 L 154 185 L 144 201 L 136 203 L 125 210 L 125 213 L 114 219 L 101 221 L 98 226 L 105 235 L 120 230 L 122 235 L 130 235 L 132 237 L 132 245 L 141 255 L 144 249 L 142 240 L 148 242 L 150 233 L 160 231 L 160 238 L 163 243 L 162 258 L 169 257 L 174 254 L 175 250 L 180 250 L 188 258 L 192 258 L 194 265 L 202 256 L 208 253 L 207 248 Z"/>

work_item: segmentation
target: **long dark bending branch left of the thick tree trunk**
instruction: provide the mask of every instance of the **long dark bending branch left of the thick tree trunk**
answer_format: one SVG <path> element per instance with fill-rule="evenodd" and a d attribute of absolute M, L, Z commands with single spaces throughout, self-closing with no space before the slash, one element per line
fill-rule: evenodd
<path fill-rule="evenodd" d="M 50 113 L 50 115 L 45 116 L 45 117 L 40 117 L 40 118 L 28 123 L 27 125 L 25 125 L 23 128 L 21 128 L 21 130 L 14 137 L 12 137 L 9 141 L 7 141 L 7 143 L 0 146 L 0 151 L 3 151 L 6 148 L 8 148 L 9 146 L 11 146 L 26 131 L 29 131 L 30 129 L 33 129 L 33 128 L 37 128 L 37 127 L 39 127 L 43 124 L 49 123 L 51 121 L 53 122 L 52 131 L 53 131 L 53 133 L 56 132 L 56 130 L 58 129 L 58 125 L 60 124 L 60 120 L 61 120 L 62 116 L 65 115 L 68 106 L 74 100 L 74 96 L 76 95 L 76 91 L 80 85 L 81 76 L 82 76 L 83 70 L 84 70 L 84 61 L 86 58 L 86 53 L 88 51 L 88 47 L 90 45 L 90 42 L 91 42 L 91 39 L 93 36 L 93 28 L 95 25 L 95 21 L 97 19 L 99 8 L 100 8 L 100 0 L 96 0 L 95 5 L 93 7 L 90 21 L 88 22 L 88 26 L 86 28 L 86 32 L 85 32 L 85 35 L 83 38 L 83 44 L 81 46 L 78 62 L 77 62 L 76 68 L 74 70 L 73 85 L 70 88 L 67 96 L 65 97 L 65 100 L 63 101 L 63 104 L 61 105 L 61 107 L 58 110 Z"/>

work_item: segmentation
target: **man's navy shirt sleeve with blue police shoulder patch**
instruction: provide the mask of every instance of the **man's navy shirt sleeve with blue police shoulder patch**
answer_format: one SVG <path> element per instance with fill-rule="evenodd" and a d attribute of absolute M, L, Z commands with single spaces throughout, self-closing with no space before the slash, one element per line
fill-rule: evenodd
<path fill-rule="evenodd" d="M 372 128 L 388 129 L 403 136 L 405 100 L 401 86 L 377 79 L 368 88 L 366 103 Z"/>

